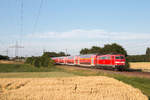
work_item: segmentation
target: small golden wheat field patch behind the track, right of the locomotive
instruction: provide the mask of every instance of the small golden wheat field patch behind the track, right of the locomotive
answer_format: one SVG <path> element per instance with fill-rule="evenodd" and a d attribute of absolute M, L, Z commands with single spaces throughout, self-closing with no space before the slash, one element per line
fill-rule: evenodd
<path fill-rule="evenodd" d="M 150 62 L 131 62 L 130 68 L 150 70 Z"/>

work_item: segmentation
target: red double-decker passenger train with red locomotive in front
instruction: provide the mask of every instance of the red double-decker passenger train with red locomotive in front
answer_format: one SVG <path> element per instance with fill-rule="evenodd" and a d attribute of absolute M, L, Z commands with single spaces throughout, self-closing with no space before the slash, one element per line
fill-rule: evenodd
<path fill-rule="evenodd" d="M 77 65 L 91 68 L 123 70 L 126 59 L 121 54 L 88 54 L 78 56 L 52 57 L 55 64 Z"/>

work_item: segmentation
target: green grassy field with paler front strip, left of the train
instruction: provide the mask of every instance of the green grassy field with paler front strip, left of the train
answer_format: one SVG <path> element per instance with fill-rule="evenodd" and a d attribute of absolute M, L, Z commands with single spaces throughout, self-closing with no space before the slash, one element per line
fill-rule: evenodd
<path fill-rule="evenodd" d="M 28 64 L 0 64 L 0 78 L 47 78 L 69 77 L 72 73 L 64 72 L 55 66 L 34 67 Z"/>

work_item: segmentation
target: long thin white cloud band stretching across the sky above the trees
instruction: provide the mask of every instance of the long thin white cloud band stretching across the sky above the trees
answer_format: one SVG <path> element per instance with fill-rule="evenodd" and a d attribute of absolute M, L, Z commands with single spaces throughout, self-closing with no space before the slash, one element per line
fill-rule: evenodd
<path fill-rule="evenodd" d="M 66 32 L 44 32 L 29 34 L 29 38 L 53 38 L 53 39 L 111 39 L 111 40 L 137 40 L 149 39 L 148 33 L 130 33 L 130 32 L 108 32 L 101 29 L 82 30 L 75 29 Z"/>

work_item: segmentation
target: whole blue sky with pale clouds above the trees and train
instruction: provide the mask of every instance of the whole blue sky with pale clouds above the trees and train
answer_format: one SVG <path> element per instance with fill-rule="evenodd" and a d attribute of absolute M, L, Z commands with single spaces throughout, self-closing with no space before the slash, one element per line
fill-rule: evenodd
<path fill-rule="evenodd" d="M 47 51 L 78 54 L 81 48 L 107 43 L 122 45 L 128 54 L 144 54 L 150 47 L 149 0 L 21 0 L 0 1 L 0 54 L 20 41 L 19 55 Z M 14 49 L 9 48 L 9 56 Z"/>

